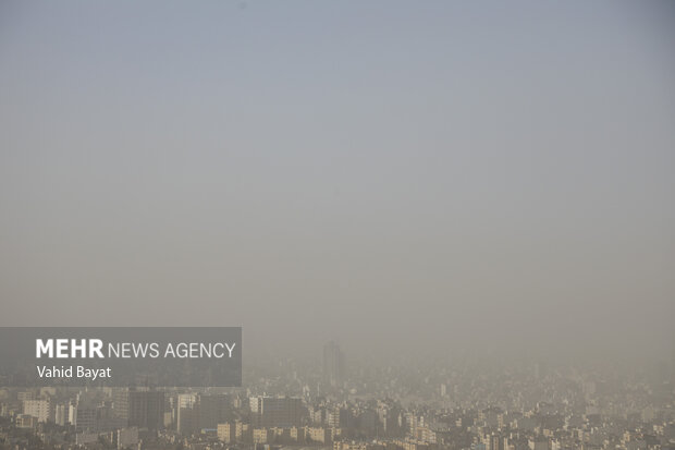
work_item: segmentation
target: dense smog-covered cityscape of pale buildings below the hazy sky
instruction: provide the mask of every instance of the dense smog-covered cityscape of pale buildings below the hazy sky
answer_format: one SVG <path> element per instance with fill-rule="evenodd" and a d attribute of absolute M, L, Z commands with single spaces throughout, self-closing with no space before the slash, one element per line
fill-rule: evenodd
<path fill-rule="evenodd" d="M 349 364 L 329 342 L 245 367 L 241 388 L 0 389 L 0 448 L 665 450 L 674 375 L 666 360 Z"/>

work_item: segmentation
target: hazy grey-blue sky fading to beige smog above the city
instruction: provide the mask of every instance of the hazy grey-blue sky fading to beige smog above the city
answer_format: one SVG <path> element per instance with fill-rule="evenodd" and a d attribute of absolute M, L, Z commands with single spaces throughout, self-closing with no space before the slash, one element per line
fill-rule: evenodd
<path fill-rule="evenodd" d="M 674 50 L 667 2 L 3 1 L 0 325 L 673 354 Z"/>

